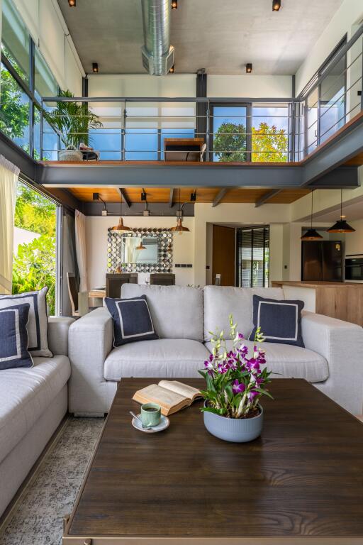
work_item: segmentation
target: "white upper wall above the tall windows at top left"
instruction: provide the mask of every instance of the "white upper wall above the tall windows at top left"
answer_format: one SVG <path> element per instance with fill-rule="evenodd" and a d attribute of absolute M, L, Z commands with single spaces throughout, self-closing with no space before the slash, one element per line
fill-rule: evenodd
<path fill-rule="evenodd" d="M 82 95 L 84 70 L 56 0 L 13 0 L 62 89 Z"/>

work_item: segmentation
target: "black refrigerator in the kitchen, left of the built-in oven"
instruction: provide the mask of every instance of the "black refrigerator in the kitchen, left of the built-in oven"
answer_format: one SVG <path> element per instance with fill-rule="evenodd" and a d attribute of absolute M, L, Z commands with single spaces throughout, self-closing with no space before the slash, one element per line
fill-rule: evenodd
<path fill-rule="evenodd" d="M 303 241 L 301 251 L 301 280 L 343 281 L 340 241 Z"/>

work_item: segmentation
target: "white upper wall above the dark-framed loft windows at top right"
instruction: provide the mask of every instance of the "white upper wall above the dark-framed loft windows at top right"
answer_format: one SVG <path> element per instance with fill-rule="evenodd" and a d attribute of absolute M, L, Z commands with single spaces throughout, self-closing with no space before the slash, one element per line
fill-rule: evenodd
<path fill-rule="evenodd" d="M 351 38 L 352 27 L 359 23 L 362 18 L 362 0 L 345 0 L 342 3 L 340 9 L 337 10 L 314 47 L 308 52 L 306 60 L 296 72 L 296 95 L 301 92 L 303 87 L 313 77 L 345 33 L 348 35 L 348 40 Z"/>

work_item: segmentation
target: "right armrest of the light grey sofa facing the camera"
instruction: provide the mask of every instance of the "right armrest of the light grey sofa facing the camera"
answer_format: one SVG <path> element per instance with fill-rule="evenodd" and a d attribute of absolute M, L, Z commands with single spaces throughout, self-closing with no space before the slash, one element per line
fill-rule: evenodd
<path fill-rule="evenodd" d="M 313 312 L 303 312 L 301 327 L 306 348 L 328 361 L 328 379 L 315 386 L 352 414 L 362 414 L 362 327 Z"/>

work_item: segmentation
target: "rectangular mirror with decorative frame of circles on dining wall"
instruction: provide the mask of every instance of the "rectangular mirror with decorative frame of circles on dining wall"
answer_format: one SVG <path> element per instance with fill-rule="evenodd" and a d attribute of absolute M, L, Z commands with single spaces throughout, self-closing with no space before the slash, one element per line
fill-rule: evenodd
<path fill-rule="evenodd" d="M 108 231 L 107 272 L 172 272 L 169 229 Z"/>

